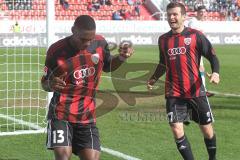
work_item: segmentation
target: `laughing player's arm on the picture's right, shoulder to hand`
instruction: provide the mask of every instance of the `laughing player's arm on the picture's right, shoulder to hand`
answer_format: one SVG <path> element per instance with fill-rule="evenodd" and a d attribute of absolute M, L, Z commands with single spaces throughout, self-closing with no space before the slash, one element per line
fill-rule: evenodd
<path fill-rule="evenodd" d="M 203 35 L 199 34 L 198 43 L 200 53 L 204 56 L 211 64 L 212 74 L 208 74 L 211 83 L 218 84 L 220 81 L 219 78 L 219 60 L 215 54 L 215 51 L 212 47 L 210 41 Z"/>

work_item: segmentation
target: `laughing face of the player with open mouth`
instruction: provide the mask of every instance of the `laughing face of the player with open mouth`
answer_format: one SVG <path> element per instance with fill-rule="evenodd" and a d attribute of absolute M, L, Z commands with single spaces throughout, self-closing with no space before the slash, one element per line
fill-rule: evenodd
<path fill-rule="evenodd" d="M 184 29 L 185 15 L 182 15 L 180 7 L 168 9 L 167 20 L 173 33 L 180 33 Z"/>

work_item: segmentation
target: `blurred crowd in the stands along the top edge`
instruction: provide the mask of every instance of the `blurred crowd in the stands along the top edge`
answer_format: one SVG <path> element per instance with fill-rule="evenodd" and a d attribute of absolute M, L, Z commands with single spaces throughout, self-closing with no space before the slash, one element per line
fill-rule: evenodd
<path fill-rule="evenodd" d="M 112 20 L 141 19 L 142 5 L 146 0 L 84 0 L 84 7 L 90 12 L 102 12 L 104 8 L 111 15 Z M 159 0 L 164 1 L 164 0 Z M 210 20 L 240 21 L 240 0 L 165 0 L 180 1 L 187 7 L 188 13 L 195 13 L 198 6 L 204 5 L 209 13 Z M 4 0 L 8 10 L 32 10 L 33 0 Z M 69 10 L 70 0 L 59 0 L 64 10 Z M 102 9 L 103 8 L 103 9 Z M 110 10 L 109 10 L 110 9 Z M 4 15 L 0 4 L 0 16 Z M 105 14 L 103 13 L 102 16 Z M 109 15 L 109 16 L 110 16 Z M 105 15 L 106 16 L 106 15 Z M 194 16 L 194 14 L 193 14 Z"/>

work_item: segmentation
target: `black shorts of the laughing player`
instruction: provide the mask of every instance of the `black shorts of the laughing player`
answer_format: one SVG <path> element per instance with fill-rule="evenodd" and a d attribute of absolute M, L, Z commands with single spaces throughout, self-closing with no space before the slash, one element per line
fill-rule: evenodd
<path fill-rule="evenodd" d="M 214 121 L 211 107 L 206 96 L 191 99 L 167 98 L 167 116 L 169 123 L 193 120 L 200 125 Z"/>

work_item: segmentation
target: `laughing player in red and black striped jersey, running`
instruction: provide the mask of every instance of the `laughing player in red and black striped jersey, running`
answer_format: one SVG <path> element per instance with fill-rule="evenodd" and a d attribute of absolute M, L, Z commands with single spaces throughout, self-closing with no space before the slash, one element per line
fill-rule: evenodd
<path fill-rule="evenodd" d="M 201 56 L 209 60 L 212 68 L 210 82 L 218 84 L 219 61 L 209 40 L 200 31 L 184 26 L 185 17 L 186 10 L 182 3 L 171 2 L 167 5 L 171 30 L 159 37 L 160 61 L 147 87 L 152 89 L 166 72 L 166 110 L 177 149 L 184 160 L 194 159 L 183 128 L 183 122 L 191 116 L 203 133 L 209 160 L 215 160 L 213 115 L 199 74 L 199 64 Z"/>

